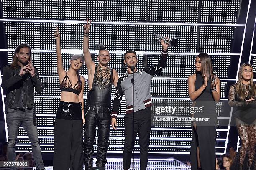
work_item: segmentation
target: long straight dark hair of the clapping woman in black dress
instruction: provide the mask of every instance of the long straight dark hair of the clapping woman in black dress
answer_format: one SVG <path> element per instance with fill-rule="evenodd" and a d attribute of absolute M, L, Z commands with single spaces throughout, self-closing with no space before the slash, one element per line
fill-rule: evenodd
<path fill-rule="evenodd" d="M 197 55 L 197 57 L 201 60 L 201 74 L 204 76 L 204 74 L 207 77 L 207 80 L 209 78 L 214 79 L 214 73 L 212 68 L 212 60 L 210 56 L 207 53 L 200 53 Z"/>

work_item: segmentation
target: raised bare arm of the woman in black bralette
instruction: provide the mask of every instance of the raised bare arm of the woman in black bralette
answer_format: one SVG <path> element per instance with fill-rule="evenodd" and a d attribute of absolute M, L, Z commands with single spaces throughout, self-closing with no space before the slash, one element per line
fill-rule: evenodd
<path fill-rule="evenodd" d="M 65 76 L 65 70 L 63 68 L 63 62 L 62 62 L 62 56 L 61 56 L 60 33 L 59 33 L 59 28 L 57 26 L 56 26 L 56 31 L 54 33 L 54 37 L 56 38 L 57 71 L 58 71 L 59 78 L 62 78 Z"/>

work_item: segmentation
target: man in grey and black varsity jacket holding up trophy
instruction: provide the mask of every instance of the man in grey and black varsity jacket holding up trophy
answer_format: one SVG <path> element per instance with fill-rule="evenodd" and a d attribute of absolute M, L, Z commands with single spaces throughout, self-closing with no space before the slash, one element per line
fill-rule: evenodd
<path fill-rule="evenodd" d="M 120 107 L 120 101 L 124 94 L 126 98 L 126 114 L 124 116 L 125 145 L 123 151 L 124 170 L 128 170 L 130 168 L 133 142 L 136 139 L 138 131 L 140 143 L 140 169 L 146 170 L 147 167 L 152 106 L 150 84 L 152 78 L 166 67 L 168 47 L 170 45 L 177 45 L 177 42 L 174 42 L 177 41 L 175 38 L 170 40 L 169 38 L 164 38 L 161 35 L 157 36 L 157 38 L 159 38 L 162 45 L 162 56 L 159 63 L 153 67 L 146 67 L 138 70 L 136 66 L 138 61 L 136 52 L 128 50 L 124 54 L 124 63 L 127 65 L 127 72 L 118 79 L 115 98 L 113 101 L 113 112 L 111 114 L 111 125 L 113 129 L 116 129 L 117 114 Z M 173 43 L 176 44 L 173 45 Z M 131 82 L 134 82 L 134 90 Z M 134 117 L 132 114 L 133 111 Z"/>

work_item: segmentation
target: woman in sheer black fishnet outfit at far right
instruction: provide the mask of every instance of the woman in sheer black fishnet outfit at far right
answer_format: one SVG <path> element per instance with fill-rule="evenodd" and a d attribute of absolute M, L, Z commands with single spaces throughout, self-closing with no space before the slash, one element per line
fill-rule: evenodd
<path fill-rule="evenodd" d="M 238 81 L 230 86 L 228 103 L 235 107 L 236 128 L 241 147 L 231 170 L 256 170 L 256 84 L 251 64 L 241 65 Z"/>

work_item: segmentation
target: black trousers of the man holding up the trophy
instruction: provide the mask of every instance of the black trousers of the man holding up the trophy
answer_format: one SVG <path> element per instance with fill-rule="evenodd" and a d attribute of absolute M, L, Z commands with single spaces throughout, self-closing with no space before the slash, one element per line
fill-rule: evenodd
<path fill-rule="evenodd" d="M 123 150 L 123 169 L 130 168 L 132 156 L 132 128 L 133 114 L 128 113 L 125 119 L 125 145 Z M 149 137 L 151 129 L 151 107 L 134 112 L 134 140 L 136 140 L 137 132 L 139 132 L 140 142 L 140 169 L 146 170 L 148 164 Z"/>

